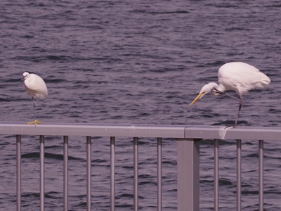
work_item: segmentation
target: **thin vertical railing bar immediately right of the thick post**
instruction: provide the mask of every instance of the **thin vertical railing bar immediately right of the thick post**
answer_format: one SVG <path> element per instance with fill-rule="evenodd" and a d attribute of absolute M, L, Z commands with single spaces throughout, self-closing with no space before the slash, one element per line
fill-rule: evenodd
<path fill-rule="evenodd" d="M 219 140 L 214 139 L 214 210 L 218 211 L 218 144 Z"/>

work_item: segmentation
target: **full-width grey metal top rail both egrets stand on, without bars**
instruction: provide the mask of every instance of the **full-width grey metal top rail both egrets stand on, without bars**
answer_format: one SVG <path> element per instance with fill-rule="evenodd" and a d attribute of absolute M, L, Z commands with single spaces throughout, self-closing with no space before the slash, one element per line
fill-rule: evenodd
<path fill-rule="evenodd" d="M 281 139 L 280 127 L 224 127 L 164 124 L 85 124 L 0 122 L 1 135 L 119 136 L 177 139 Z"/>

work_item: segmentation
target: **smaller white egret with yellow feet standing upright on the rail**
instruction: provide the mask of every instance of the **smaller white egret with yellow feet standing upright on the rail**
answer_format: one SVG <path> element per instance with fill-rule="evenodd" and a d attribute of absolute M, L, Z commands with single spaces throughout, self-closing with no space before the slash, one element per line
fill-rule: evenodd
<path fill-rule="evenodd" d="M 23 72 L 22 81 L 25 84 L 25 90 L 32 97 L 34 108 L 34 121 L 27 122 L 27 124 L 41 124 L 42 122 L 36 119 L 35 115 L 35 98 L 44 99 L 48 96 L 48 89 L 44 80 L 36 74 L 30 72 Z"/>

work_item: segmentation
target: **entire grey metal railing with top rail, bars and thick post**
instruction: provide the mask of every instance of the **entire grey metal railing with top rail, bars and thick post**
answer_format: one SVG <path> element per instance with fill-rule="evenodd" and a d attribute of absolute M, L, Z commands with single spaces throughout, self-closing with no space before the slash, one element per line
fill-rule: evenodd
<path fill-rule="evenodd" d="M 280 140 L 281 129 L 272 127 L 188 127 L 183 125 L 30 124 L 0 123 L 0 135 L 16 135 L 17 210 L 21 210 L 21 136 L 40 140 L 40 210 L 44 210 L 44 136 L 63 136 L 63 203 L 68 210 L 68 137 L 86 138 L 86 209 L 91 210 L 91 138 L 110 137 L 110 210 L 115 210 L 115 139 L 133 139 L 133 208 L 138 210 L 138 138 L 157 140 L 157 210 L 162 210 L 162 139 L 178 141 L 178 210 L 199 210 L 199 143 L 214 140 L 214 210 L 218 210 L 218 140 L 237 140 L 237 210 L 241 210 L 242 139 L 259 140 L 259 210 L 263 210 L 263 140 Z M 234 155 L 233 155 L 234 156 Z"/>

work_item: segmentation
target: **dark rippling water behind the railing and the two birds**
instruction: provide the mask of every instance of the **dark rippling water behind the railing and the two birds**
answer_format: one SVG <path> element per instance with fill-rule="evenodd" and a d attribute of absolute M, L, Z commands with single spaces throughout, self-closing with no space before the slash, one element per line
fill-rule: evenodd
<path fill-rule="evenodd" d="M 271 84 L 244 96 L 243 126 L 280 126 L 280 1 L 0 1 L 1 122 L 32 120 L 25 70 L 48 86 L 43 122 L 234 122 L 237 102 L 205 96 L 217 70 L 244 61 Z M 231 93 L 230 93 L 231 94 Z M 234 94 L 234 93 L 233 93 Z M 46 210 L 63 208 L 63 140 L 46 137 Z M 70 138 L 70 210 L 86 207 L 86 146 Z M 39 209 L 39 140 L 22 137 L 22 210 Z M 258 210 L 258 148 L 242 143 L 242 208 Z M 133 206 L 133 146 L 117 140 L 117 210 Z M 213 207 L 213 148 L 200 146 L 201 210 Z M 140 207 L 156 210 L 156 142 L 141 139 Z M 176 143 L 164 140 L 163 210 L 176 210 Z M 0 208 L 15 210 L 15 137 L 0 143 Z M 220 203 L 235 210 L 235 141 L 221 141 Z M 109 210 L 109 140 L 93 139 L 93 210 Z M 254 165 L 253 165 L 254 164 Z M 265 209 L 280 210 L 280 143 L 265 142 Z"/>

